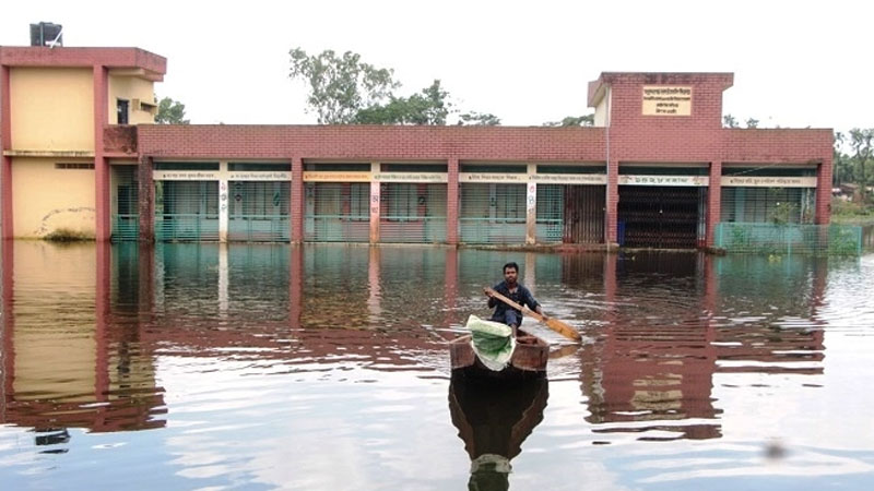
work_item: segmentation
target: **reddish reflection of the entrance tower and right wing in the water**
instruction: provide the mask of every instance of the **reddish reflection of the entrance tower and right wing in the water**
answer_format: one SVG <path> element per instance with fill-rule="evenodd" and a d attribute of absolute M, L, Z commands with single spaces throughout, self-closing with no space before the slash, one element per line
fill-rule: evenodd
<path fill-rule="evenodd" d="M 582 351 L 587 420 L 594 432 L 640 433 L 645 440 L 719 438 L 714 375 L 823 373 L 823 332 L 816 326 L 783 327 L 781 319 L 729 321 L 739 315 L 741 299 L 757 298 L 751 295 L 756 280 L 749 272 L 758 275 L 759 298 L 769 303 L 742 306 L 741 312 L 771 311 L 775 296 L 768 289 L 773 283 L 780 291 L 792 291 L 782 315 L 815 318 L 825 285 L 823 265 L 775 275 L 737 261 L 748 260 L 638 254 L 605 264 L 609 307 L 603 327 L 592 333 L 601 342 Z M 732 275 L 734 266 L 743 277 Z M 637 275 L 641 268 L 647 274 Z M 735 294 L 741 295 L 732 298 Z"/>

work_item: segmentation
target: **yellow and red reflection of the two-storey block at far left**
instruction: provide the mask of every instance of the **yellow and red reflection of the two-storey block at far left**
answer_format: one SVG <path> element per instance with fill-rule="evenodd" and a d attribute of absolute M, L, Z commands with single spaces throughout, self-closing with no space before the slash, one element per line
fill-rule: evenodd
<path fill-rule="evenodd" d="M 138 306 L 129 304 L 129 312 L 108 309 L 106 296 L 116 282 L 109 273 L 125 268 L 97 267 L 94 259 L 92 246 L 3 244 L 0 423 L 95 432 L 164 426 L 155 366 L 140 351 L 147 346 L 140 343 Z M 95 276 L 97 271 L 104 274 Z M 40 438 L 44 444 L 66 441 Z"/>

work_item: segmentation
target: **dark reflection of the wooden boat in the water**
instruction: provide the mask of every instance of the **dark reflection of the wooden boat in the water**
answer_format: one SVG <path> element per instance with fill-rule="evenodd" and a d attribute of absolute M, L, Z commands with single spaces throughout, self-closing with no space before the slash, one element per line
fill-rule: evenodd
<path fill-rule="evenodd" d="M 543 420 L 548 392 L 546 379 L 496 384 L 452 375 L 449 414 L 471 459 L 469 489 L 509 489 L 510 460 Z"/>

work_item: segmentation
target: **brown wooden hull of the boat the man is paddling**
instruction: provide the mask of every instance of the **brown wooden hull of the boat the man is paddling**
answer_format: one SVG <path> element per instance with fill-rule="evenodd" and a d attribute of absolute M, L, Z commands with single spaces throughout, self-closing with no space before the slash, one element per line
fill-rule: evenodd
<path fill-rule="evenodd" d="M 449 343 L 449 359 L 452 373 L 471 376 L 492 376 L 501 379 L 538 378 L 546 374 L 550 359 L 550 345 L 538 336 L 519 330 L 516 350 L 510 362 L 501 371 L 486 368 L 471 347 L 471 336 L 461 336 Z"/>

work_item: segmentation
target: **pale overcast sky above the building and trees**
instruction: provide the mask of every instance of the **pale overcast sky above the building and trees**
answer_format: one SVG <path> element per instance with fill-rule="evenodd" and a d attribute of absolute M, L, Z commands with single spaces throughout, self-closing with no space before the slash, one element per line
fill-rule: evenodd
<path fill-rule="evenodd" d="M 604 71 L 734 72 L 723 113 L 760 127 L 874 127 L 871 2 L 805 1 L 7 1 L 0 45 L 28 24 L 64 46 L 167 58 L 158 97 L 193 123 L 312 123 L 288 50 L 352 50 L 409 95 L 440 79 L 462 110 L 540 125 L 587 108 Z M 720 7 L 717 7 L 720 5 Z"/>

